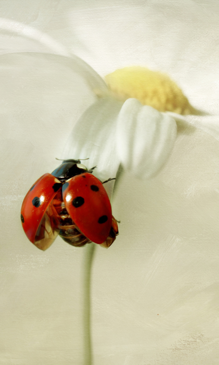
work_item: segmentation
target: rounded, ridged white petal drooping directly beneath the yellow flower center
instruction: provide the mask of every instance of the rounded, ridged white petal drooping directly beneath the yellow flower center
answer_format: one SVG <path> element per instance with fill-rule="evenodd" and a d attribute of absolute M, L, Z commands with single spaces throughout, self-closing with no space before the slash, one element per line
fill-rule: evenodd
<path fill-rule="evenodd" d="M 118 116 L 116 146 L 121 162 L 138 177 L 160 170 L 176 139 L 176 122 L 152 107 L 128 99 Z"/>

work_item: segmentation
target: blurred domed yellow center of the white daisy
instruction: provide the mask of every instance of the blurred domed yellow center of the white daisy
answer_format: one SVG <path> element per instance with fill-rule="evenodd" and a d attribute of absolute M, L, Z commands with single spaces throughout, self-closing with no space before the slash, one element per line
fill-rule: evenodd
<path fill-rule="evenodd" d="M 187 97 L 168 75 L 132 66 L 105 76 L 108 87 L 120 100 L 134 97 L 143 105 L 178 114 L 196 114 Z"/>

